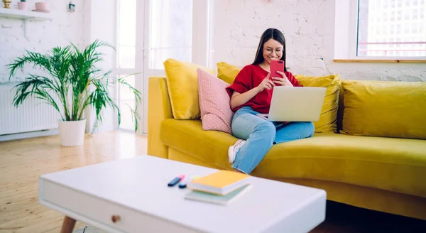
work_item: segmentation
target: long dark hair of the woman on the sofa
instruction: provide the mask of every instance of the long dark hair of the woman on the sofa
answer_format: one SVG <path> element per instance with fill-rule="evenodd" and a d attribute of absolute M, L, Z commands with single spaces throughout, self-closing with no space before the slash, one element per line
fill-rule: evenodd
<path fill-rule="evenodd" d="M 258 49 L 256 52 L 256 58 L 254 59 L 253 65 L 258 65 L 263 63 L 263 45 L 268 41 L 269 39 L 277 40 L 281 45 L 283 45 L 283 56 L 280 60 L 284 61 L 284 71 L 287 71 L 287 68 L 285 67 L 287 63 L 285 63 L 285 38 L 284 34 L 279 31 L 276 28 L 268 28 L 266 31 L 262 33 L 261 40 L 259 41 Z"/>

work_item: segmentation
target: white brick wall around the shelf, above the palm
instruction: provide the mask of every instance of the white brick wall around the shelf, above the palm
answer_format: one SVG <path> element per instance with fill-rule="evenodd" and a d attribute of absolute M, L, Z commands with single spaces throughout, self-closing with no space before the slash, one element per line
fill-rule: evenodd
<path fill-rule="evenodd" d="M 38 0 L 27 0 L 28 10 L 35 9 L 34 3 Z M 13 0 L 11 9 L 18 9 L 18 0 Z M 18 55 L 22 55 L 25 50 L 45 53 L 50 48 L 58 45 L 69 45 L 75 43 L 82 48 L 83 41 L 83 20 L 84 1 L 74 0 L 75 12 L 68 12 L 69 0 L 45 0 L 50 4 L 53 13 L 52 21 L 28 21 L 27 38 L 23 34 L 23 20 L 16 18 L 0 17 L 0 84 L 9 82 L 9 70 L 6 64 Z M 0 1 L 0 7 L 3 2 Z M 18 80 L 28 73 L 27 67 L 23 73 L 18 72 Z M 14 81 L 15 79 L 11 80 Z"/>

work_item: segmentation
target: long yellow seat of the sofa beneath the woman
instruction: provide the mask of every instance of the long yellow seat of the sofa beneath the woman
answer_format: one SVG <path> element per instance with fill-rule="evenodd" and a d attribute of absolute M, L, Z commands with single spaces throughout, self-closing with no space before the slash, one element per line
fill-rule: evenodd
<path fill-rule="evenodd" d="M 199 120 L 166 119 L 160 137 L 182 153 L 231 169 L 227 152 L 237 139 L 203 131 Z M 319 133 L 274 145 L 251 175 L 329 180 L 426 197 L 425 148 L 425 140 Z"/>

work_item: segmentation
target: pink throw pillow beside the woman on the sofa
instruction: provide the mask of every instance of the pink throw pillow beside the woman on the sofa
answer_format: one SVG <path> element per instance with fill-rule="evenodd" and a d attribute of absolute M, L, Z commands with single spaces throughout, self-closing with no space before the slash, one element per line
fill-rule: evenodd
<path fill-rule="evenodd" d="M 229 106 L 228 83 L 198 69 L 198 97 L 200 102 L 202 129 L 217 130 L 231 134 L 234 112 Z"/>

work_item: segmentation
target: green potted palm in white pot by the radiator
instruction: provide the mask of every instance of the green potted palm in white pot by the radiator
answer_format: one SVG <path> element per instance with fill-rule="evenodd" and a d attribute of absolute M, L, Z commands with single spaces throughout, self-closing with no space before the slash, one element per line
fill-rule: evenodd
<path fill-rule="evenodd" d="M 62 146 L 80 146 L 84 142 L 86 119 L 84 110 L 92 107 L 96 114 L 93 131 L 102 123 L 102 112 L 111 107 L 121 119 L 120 109 L 109 94 L 109 85 L 126 85 L 135 95 L 136 109 L 130 109 L 135 122 L 135 131 L 138 129 L 138 103 L 141 102 L 141 92 L 138 92 L 129 83 L 126 77 L 109 77 L 111 71 L 103 72 L 96 67 L 102 61 L 102 53 L 97 48 L 108 46 L 107 43 L 95 40 L 84 50 L 79 50 L 71 44 L 64 48 L 55 47 L 46 54 L 26 51 L 11 64 L 9 82 L 18 69 L 24 65 L 33 64 L 48 73 L 45 77 L 28 73 L 23 82 L 18 82 L 13 105 L 18 107 L 28 97 L 42 99 L 52 105 L 61 116 L 58 119 L 60 141 Z M 113 48 L 114 49 L 114 48 Z M 92 134 L 93 134 L 92 131 Z"/>

